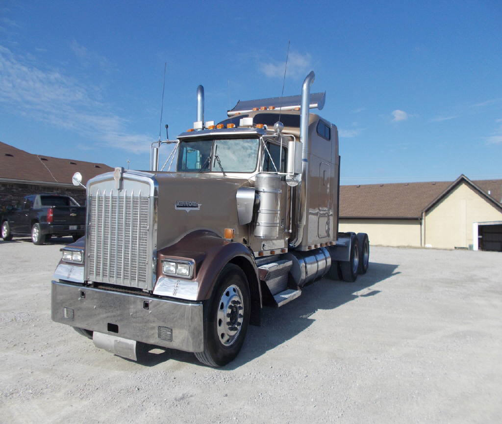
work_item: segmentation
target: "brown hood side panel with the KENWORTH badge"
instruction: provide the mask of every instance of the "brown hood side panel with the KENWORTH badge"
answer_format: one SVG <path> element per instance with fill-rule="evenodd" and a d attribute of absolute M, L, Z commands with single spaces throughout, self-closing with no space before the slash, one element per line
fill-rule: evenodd
<path fill-rule="evenodd" d="M 235 194 L 249 187 L 244 178 L 208 173 L 156 174 L 159 184 L 157 249 L 163 249 L 196 230 L 210 230 L 223 236 L 233 228 L 236 241 L 248 237 L 246 226 L 239 226 Z M 245 234 L 244 234 L 245 232 Z"/>

